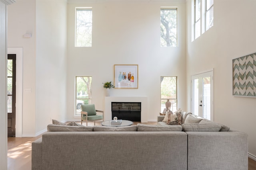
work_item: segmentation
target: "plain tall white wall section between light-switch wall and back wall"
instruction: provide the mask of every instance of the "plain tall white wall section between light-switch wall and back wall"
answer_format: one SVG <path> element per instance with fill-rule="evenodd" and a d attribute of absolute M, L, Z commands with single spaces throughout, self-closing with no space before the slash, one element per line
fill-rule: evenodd
<path fill-rule="evenodd" d="M 66 120 L 66 0 L 36 2 L 36 132 Z"/>

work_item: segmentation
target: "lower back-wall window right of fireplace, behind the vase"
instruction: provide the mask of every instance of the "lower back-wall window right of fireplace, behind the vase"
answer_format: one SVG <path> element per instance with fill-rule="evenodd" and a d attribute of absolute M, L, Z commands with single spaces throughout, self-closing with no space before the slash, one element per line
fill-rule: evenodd
<path fill-rule="evenodd" d="M 171 102 L 171 110 L 177 109 L 177 77 L 161 77 L 161 111 L 166 108 L 165 103 Z"/>

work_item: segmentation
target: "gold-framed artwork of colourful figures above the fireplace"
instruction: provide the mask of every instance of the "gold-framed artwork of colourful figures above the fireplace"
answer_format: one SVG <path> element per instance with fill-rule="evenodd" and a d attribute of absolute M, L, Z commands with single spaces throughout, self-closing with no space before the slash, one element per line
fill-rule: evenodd
<path fill-rule="evenodd" d="M 138 64 L 114 65 L 115 88 L 138 88 Z"/>

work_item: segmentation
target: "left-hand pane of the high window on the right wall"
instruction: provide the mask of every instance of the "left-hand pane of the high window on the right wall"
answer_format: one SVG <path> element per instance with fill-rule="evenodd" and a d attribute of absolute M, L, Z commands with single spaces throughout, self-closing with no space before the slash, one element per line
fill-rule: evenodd
<path fill-rule="evenodd" d="M 194 39 L 198 38 L 200 36 L 201 32 L 201 2 L 200 0 L 195 0 L 195 5 L 194 5 Z"/>

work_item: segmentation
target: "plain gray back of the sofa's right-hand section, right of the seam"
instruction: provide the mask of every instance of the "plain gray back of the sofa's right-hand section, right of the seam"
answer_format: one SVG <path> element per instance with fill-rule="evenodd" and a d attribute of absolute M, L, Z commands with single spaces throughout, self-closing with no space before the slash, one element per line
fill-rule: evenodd
<path fill-rule="evenodd" d="M 243 132 L 186 132 L 188 170 L 248 169 L 248 135 Z M 210 160 L 210 161 L 209 161 Z M 207 162 L 202 164 L 202 162 Z"/>

